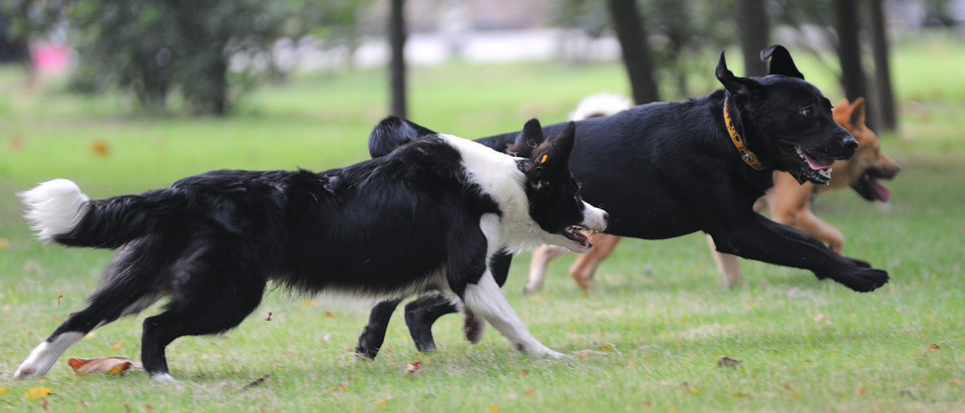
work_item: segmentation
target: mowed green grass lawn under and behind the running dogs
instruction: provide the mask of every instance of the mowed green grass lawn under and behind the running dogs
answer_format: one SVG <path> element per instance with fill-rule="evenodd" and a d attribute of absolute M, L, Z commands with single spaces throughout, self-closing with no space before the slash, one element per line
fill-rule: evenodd
<path fill-rule="evenodd" d="M 826 68 L 795 56 L 809 80 L 841 99 Z M 737 66 L 736 49 L 729 57 Z M 234 116 L 197 119 L 137 116 L 124 97 L 67 96 L 57 80 L 25 90 L 14 69 L 0 69 L 0 410 L 965 411 L 965 78 L 957 74 L 965 46 L 907 40 L 893 59 L 902 127 L 883 147 L 903 169 L 888 184 L 892 202 L 842 192 L 815 204 L 845 234 L 846 255 L 891 273 L 875 293 L 748 261 L 748 286 L 727 290 L 703 234 L 692 234 L 623 241 L 590 294 L 569 279 L 573 256 L 565 256 L 542 292 L 523 296 L 524 253 L 504 292 L 534 335 L 569 358 L 524 356 L 492 328 L 470 346 L 456 316 L 435 325 L 439 350 L 421 354 L 397 312 L 378 358 L 358 360 L 349 350 L 369 303 L 273 290 L 227 334 L 174 342 L 176 384 L 136 372 L 81 376 L 67 364 L 137 359 L 141 323 L 161 305 L 96 330 L 46 378 L 14 381 L 29 351 L 83 308 L 112 256 L 40 245 L 14 193 L 67 177 L 104 197 L 214 168 L 362 161 L 368 131 L 385 115 L 385 74 L 299 75 L 246 97 Z M 714 62 L 708 54 L 708 73 Z M 692 92 L 712 87 L 701 79 Z M 475 138 L 532 116 L 562 121 L 598 90 L 628 90 L 620 65 L 417 67 L 410 111 L 428 127 Z M 718 367 L 723 355 L 742 363 Z M 416 361 L 421 373 L 407 374 Z M 52 394 L 28 397 L 38 387 Z"/>

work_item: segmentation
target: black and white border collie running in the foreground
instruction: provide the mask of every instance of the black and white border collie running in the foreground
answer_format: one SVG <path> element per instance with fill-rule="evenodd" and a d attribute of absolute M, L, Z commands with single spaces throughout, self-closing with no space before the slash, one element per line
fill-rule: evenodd
<path fill-rule="evenodd" d="M 173 380 L 164 348 L 234 328 L 262 302 L 269 280 L 376 299 L 437 290 L 514 348 L 560 357 L 530 334 L 490 268 L 494 255 L 539 244 L 586 251 L 592 245 L 578 229 L 605 228 L 606 213 L 583 202 L 569 172 L 574 128 L 544 141 L 538 121 L 528 122 L 529 159 L 429 134 L 318 173 L 215 170 L 97 200 L 66 179 L 42 183 L 19 194 L 41 241 L 121 251 L 88 307 L 34 348 L 14 377 L 46 374 L 90 331 L 170 297 L 144 321 L 141 361 L 152 378 Z"/>

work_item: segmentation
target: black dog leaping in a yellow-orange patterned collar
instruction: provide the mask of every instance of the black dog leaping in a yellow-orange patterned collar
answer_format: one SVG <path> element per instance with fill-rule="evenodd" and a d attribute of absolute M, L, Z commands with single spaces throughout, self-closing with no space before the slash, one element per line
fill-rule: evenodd
<path fill-rule="evenodd" d="M 802 231 L 766 219 L 754 203 L 774 185 L 774 170 L 799 181 L 827 184 L 827 168 L 850 158 L 858 142 L 831 114 L 831 102 L 804 80 L 790 53 L 780 45 L 760 53 L 771 59 L 764 77 L 737 77 L 721 53 L 717 79 L 724 90 L 685 101 L 650 103 L 620 114 L 576 122 L 571 168 L 584 198 L 610 214 L 607 233 L 662 240 L 697 231 L 709 234 L 717 249 L 743 258 L 811 270 L 857 291 L 888 282 L 888 273 L 843 257 Z M 565 123 L 543 128 L 559 133 Z M 394 135 L 370 137 L 373 157 L 400 142 L 430 132 L 409 122 Z M 478 140 L 512 153 L 527 142 L 518 132 Z M 504 271 L 510 256 L 494 268 Z M 356 351 L 374 357 L 392 311 L 400 301 L 372 309 Z M 435 347 L 431 325 L 455 306 L 435 296 L 405 307 L 405 321 L 416 347 Z M 466 331 L 481 331 L 467 318 Z M 467 334 L 470 341 L 481 334 Z"/>

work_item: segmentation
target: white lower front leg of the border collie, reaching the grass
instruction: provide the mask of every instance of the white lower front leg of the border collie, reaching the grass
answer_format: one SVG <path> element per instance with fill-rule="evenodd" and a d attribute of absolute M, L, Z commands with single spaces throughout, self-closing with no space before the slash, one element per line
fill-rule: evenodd
<path fill-rule="evenodd" d="M 503 297 L 503 293 L 492 278 L 492 273 L 487 269 L 483 273 L 483 278 L 478 284 L 466 286 L 463 302 L 470 311 L 478 316 L 482 316 L 486 322 L 492 324 L 499 332 L 503 333 L 512 343 L 512 347 L 519 351 L 528 352 L 535 356 L 546 356 L 552 358 L 562 358 L 563 353 L 548 348 L 530 334 L 516 311 L 510 307 L 510 303 Z"/>

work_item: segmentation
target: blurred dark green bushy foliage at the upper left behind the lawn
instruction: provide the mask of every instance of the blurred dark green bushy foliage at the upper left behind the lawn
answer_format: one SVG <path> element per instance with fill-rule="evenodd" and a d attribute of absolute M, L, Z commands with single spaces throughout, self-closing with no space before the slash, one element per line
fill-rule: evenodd
<path fill-rule="evenodd" d="M 150 111 L 164 111 L 179 90 L 191 113 L 221 116 L 277 68 L 275 41 L 351 20 L 365 0 L 16 1 L 30 11 L 17 20 L 32 26 L 26 33 L 57 21 L 72 28 L 80 56 L 74 89 L 131 91 Z"/>

